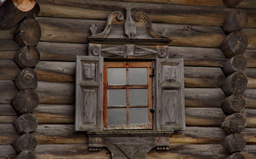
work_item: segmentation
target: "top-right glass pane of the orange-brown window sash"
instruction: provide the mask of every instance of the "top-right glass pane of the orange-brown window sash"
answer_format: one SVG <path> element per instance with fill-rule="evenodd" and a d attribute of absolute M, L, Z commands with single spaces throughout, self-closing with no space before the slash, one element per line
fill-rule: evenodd
<path fill-rule="evenodd" d="M 128 83 L 130 85 L 146 85 L 147 68 L 128 68 Z"/>

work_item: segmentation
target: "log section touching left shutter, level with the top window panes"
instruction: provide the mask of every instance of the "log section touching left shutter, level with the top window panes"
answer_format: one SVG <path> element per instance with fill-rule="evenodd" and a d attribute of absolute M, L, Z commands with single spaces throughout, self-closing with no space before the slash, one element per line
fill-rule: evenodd
<path fill-rule="evenodd" d="M 35 72 L 39 81 L 73 82 L 74 68 L 74 62 L 39 62 Z"/>

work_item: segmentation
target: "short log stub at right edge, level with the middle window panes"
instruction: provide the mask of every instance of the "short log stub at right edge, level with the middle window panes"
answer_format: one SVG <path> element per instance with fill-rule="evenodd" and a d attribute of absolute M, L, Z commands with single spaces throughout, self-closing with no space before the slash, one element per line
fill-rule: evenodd
<path fill-rule="evenodd" d="M 246 89 L 243 97 L 245 97 L 245 108 L 256 108 L 256 89 Z"/>

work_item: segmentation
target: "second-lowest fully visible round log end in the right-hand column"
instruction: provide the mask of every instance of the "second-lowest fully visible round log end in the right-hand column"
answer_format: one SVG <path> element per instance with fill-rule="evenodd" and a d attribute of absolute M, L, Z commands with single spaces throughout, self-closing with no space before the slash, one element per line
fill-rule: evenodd
<path fill-rule="evenodd" d="M 221 123 L 221 128 L 226 134 L 232 134 L 235 132 L 242 132 L 245 129 L 246 121 L 243 113 L 234 113 L 225 117 Z"/>

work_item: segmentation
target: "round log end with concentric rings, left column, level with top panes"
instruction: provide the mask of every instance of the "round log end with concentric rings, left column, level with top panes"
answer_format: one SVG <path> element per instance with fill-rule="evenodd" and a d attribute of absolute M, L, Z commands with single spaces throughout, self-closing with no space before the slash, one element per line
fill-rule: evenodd
<path fill-rule="evenodd" d="M 19 72 L 15 78 L 15 85 L 21 91 L 22 89 L 35 89 L 37 87 L 38 76 L 31 68 L 25 68 Z"/>

